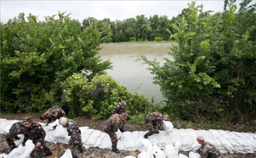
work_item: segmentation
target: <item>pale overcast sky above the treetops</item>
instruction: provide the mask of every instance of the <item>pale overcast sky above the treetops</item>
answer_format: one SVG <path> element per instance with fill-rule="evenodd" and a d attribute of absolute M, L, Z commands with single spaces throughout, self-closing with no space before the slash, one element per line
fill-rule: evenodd
<path fill-rule="evenodd" d="M 203 11 L 223 11 L 224 0 L 201 0 L 196 5 L 203 4 Z M 256 0 L 254 0 L 256 1 Z M 38 16 L 39 21 L 44 21 L 44 16 L 53 16 L 61 13 L 71 13 L 70 17 L 83 19 L 94 17 L 98 20 L 110 18 L 111 21 L 136 18 L 144 14 L 149 16 L 168 16 L 171 19 L 188 7 L 191 1 L 11 1 L 1 0 L 1 22 L 6 23 L 9 18 L 18 16 L 18 13 L 28 13 Z M 240 1 L 239 1 L 240 2 Z M 239 4 L 239 2 L 237 4 Z"/>

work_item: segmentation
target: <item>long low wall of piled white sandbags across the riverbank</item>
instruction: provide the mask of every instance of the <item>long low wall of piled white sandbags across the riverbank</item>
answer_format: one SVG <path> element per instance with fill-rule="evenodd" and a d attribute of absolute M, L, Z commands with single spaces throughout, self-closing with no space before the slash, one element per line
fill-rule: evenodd
<path fill-rule="evenodd" d="M 9 132 L 9 128 L 13 123 L 20 120 L 0 120 L 0 133 Z M 46 123 L 41 123 L 43 129 L 46 131 L 45 141 L 60 142 L 68 144 L 70 136 L 62 125 L 58 125 L 58 120 L 46 126 Z M 53 126 L 57 127 L 53 128 Z M 202 136 L 207 142 L 211 142 L 215 147 L 220 149 L 220 152 L 238 152 L 238 153 L 254 153 L 256 151 L 256 134 L 251 132 L 230 132 L 228 130 L 193 130 L 193 129 L 175 129 L 172 123 L 164 121 L 164 128 L 166 131 L 159 131 L 159 134 L 149 136 L 149 139 L 144 139 L 147 131 L 134 132 L 116 132 L 118 143 L 117 149 L 134 151 L 139 149 L 142 153 L 138 157 L 144 157 L 146 154 L 151 154 L 157 157 L 168 154 L 176 155 L 176 157 L 184 157 L 185 155 L 178 155 L 176 152 L 180 149 L 183 151 L 193 151 L 198 149 L 200 145 L 196 141 L 196 137 Z M 84 147 L 100 147 L 102 149 L 111 149 L 110 136 L 100 130 L 90 129 L 88 127 L 80 127 L 82 144 Z M 145 142 L 149 141 L 149 142 Z M 21 140 L 16 142 L 16 145 L 21 144 Z M 156 152 L 151 153 L 150 145 L 156 144 L 159 149 L 155 147 Z M 149 149 L 150 148 L 150 149 Z M 178 149 L 178 150 L 177 150 Z M 144 154 L 143 154 L 144 153 Z M 11 154 L 11 153 L 10 153 Z"/>

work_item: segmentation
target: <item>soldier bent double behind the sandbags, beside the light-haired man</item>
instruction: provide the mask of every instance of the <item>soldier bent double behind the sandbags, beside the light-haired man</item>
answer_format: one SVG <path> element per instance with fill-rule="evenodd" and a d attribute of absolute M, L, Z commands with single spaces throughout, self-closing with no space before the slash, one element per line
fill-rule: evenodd
<path fill-rule="evenodd" d="M 65 114 L 65 111 L 63 111 L 62 108 L 60 108 L 59 106 L 53 106 L 51 108 L 49 108 L 46 113 L 43 113 L 43 115 L 41 115 L 39 118 L 40 120 L 46 120 L 48 119 L 48 123 L 47 125 L 53 120 L 53 122 L 56 119 L 60 119 L 61 117 L 67 117 Z"/>

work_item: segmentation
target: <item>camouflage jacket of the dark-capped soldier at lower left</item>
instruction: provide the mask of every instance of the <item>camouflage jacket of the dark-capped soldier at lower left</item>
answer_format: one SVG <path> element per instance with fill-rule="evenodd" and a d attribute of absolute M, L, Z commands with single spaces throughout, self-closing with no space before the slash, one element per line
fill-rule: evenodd
<path fill-rule="evenodd" d="M 29 128 L 25 128 L 24 140 L 22 144 L 25 144 L 28 139 L 33 142 L 43 142 L 46 137 L 46 131 L 43 130 L 40 123 L 31 123 Z"/>

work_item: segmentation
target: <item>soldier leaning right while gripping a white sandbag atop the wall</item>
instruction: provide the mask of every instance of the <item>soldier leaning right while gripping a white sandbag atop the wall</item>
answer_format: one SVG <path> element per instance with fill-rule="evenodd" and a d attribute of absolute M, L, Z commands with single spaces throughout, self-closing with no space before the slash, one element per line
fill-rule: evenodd
<path fill-rule="evenodd" d="M 149 132 L 147 132 L 144 135 L 144 138 L 148 138 L 150 135 L 154 135 L 154 133 L 158 134 L 159 130 L 163 130 L 161 128 L 161 125 L 163 124 L 163 120 L 168 120 L 169 115 L 165 114 L 162 115 L 158 112 L 152 112 L 147 115 L 145 115 L 144 120 L 146 123 L 146 127 L 149 129 Z"/>

